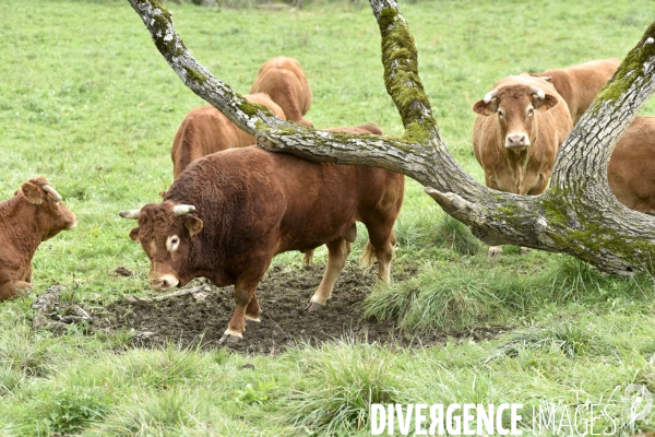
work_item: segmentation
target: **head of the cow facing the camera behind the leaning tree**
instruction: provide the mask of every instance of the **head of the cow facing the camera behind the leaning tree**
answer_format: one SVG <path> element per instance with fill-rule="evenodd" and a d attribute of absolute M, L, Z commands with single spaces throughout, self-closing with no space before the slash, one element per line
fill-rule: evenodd
<path fill-rule="evenodd" d="M 547 111 L 559 101 L 537 86 L 511 84 L 491 90 L 473 105 L 473 111 L 497 117 L 507 150 L 523 151 L 531 144 L 536 111 Z"/>

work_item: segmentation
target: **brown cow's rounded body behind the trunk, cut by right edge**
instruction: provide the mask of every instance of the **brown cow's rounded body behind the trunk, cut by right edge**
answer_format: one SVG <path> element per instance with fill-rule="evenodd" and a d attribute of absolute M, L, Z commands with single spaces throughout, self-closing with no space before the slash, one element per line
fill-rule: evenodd
<path fill-rule="evenodd" d="M 609 160 L 609 188 L 631 210 L 655 215 L 655 117 L 636 117 Z"/>

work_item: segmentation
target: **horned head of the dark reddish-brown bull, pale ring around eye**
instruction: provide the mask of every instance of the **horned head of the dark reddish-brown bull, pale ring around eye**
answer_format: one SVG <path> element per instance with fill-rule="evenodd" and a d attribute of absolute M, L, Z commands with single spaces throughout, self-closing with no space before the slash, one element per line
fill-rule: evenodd
<path fill-rule="evenodd" d="M 176 205 L 170 201 L 148 203 L 141 210 L 122 211 L 123 218 L 139 220 L 130 238 L 140 241 L 151 260 L 150 284 L 155 291 L 183 286 L 183 274 L 193 252 L 193 237 L 202 231 L 202 220 L 194 215 L 195 206 Z"/>

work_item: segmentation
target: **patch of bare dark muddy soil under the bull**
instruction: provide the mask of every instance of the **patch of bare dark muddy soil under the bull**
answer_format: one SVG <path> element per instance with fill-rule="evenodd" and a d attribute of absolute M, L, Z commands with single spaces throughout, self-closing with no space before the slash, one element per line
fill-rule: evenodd
<path fill-rule="evenodd" d="M 321 282 L 324 264 L 309 268 L 272 267 L 258 287 L 261 323 L 249 322 L 243 341 L 228 347 L 241 353 L 274 354 L 301 342 L 318 344 L 341 338 L 368 343 L 381 342 L 402 346 L 428 345 L 445 341 L 439 332 L 408 338 L 393 321 L 379 322 L 361 318 L 361 303 L 372 290 L 376 269 L 365 273 L 355 262 L 346 265 L 334 287 L 333 297 L 320 311 L 306 307 Z M 407 280 L 417 267 L 404 265 L 394 280 Z M 188 286 L 209 284 L 195 280 Z M 94 328 L 133 329 L 135 346 L 155 346 L 170 341 L 182 346 L 200 344 L 204 349 L 222 347 L 223 335 L 234 311 L 233 287 L 211 286 L 205 296 L 186 295 L 157 303 L 115 303 L 96 310 Z M 484 339 L 496 332 L 481 330 L 466 336 Z"/>

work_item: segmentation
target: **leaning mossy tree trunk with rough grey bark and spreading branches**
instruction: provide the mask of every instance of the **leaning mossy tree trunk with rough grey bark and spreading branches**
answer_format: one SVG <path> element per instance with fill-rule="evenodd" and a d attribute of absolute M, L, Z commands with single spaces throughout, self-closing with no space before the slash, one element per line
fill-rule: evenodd
<path fill-rule="evenodd" d="M 655 91 L 655 23 L 562 144 L 550 187 L 528 197 L 488 189 L 449 153 L 418 76 L 414 37 L 394 0 L 370 4 L 380 27 L 386 91 L 405 127 L 400 138 L 331 133 L 277 119 L 200 66 L 157 0 L 128 1 L 184 84 L 253 134 L 262 147 L 313 162 L 402 173 L 489 245 L 565 252 L 614 274 L 653 270 L 655 217 L 618 203 L 608 186 L 607 166 L 620 135 Z"/>

